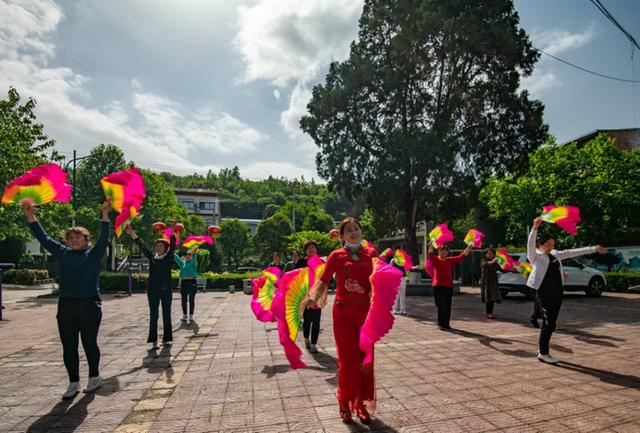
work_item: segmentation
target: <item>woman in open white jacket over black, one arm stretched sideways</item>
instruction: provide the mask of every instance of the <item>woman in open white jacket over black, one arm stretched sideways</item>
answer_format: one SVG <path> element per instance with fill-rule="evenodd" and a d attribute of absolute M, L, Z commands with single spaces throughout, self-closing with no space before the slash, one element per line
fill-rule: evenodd
<path fill-rule="evenodd" d="M 538 235 L 538 228 L 541 224 L 541 217 L 533 220 L 533 227 L 529 233 L 527 258 L 533 266 L 533 270 L 527 280 L 527 286 L 538 291 L 537 297 L 544 315 L 538 342 L 538 359 L 542 362 L 555 364 L 558 361 L 549 354 L 549 341 L 556 329 L 556 320 L 562 305 L 564 287 L 562 260 L 594 252 L 605 254 L 607 250 L 602 246 L 597 246 L 558 251 L 555 249 L 556 241 L 552 235 L 548 233 Z"/>

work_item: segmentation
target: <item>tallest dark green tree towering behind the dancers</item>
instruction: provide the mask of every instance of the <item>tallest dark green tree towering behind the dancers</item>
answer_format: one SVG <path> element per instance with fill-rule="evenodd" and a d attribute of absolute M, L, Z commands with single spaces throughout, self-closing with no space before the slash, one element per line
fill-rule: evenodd
<path fill-rule="evenodd" d="M 539 54 L 511 0 L 365 0 L 359 26 L 301 127 L 330 187 L 397 210 L 386 226 L 415 260 L 420 219 L 464 215 L 485 176 L 544 142 L 543 106 L 519 90 Z"/>

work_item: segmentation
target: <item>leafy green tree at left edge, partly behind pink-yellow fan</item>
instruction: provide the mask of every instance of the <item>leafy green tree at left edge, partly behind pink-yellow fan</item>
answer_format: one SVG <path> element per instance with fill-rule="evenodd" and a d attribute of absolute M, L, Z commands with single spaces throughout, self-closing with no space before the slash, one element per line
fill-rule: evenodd
<path fill-rule="evenodd" d="M 36 101 L 21 100 L 13 87 L 0 100 L 0 187 L 4 187 L 27 170 L 62 158 L 55 151 L 55 141 L 47 137 L 44 126 L 37 122 Z M 68 227 L 69 206 L 50 203 L 38 209 L 38 217 L 52 236 L 60 236 Z M 0 204 L 0 242 L 30 237 L 22 211 L 16 205 Z M 11 242 L 11 241 L 10 241 Z M 0 244 L 0 249 L 3 246 Z"/>

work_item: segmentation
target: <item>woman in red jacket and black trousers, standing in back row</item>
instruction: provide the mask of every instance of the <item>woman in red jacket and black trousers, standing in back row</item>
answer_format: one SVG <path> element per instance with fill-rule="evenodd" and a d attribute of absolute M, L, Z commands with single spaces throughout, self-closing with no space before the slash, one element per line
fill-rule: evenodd
<path fill-rule="evenodd" d="M 451 319 L 451 299 L 453 297 L 453 267 L 462 262 L 473 248 L 467 248 L 457 256 L 447 257 L 449 248 L 446 245 L 438 248 L 438 255 L 433 253 L 433 245 L 429 244 L 428 260 L 433 265 L 433 299 L 438 309 L 438 328 L 441 331 L 451 329 L 449 320 Z"/>

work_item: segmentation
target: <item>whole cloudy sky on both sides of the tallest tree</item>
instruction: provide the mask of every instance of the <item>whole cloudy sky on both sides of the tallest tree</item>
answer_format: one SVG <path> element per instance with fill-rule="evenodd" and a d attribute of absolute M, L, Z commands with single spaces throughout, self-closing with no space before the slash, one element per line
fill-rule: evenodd
<path fill-rule="evenodd" d="M 604 4 L 640 40 L 640 2 Z M 640 80 L 640 51 L 589 0 L 514 5 L 536 47 Z M 156 171 L 321 181 L 298 122 L 329 63 L 348 57 L 361 11 L 362 0 L 0 0 L 0 91 L 35 98 L 68 158 L 113 143 Z M 640 84 L 543 55 L 522 87 L 560 142 L 640 127 Z"/>

